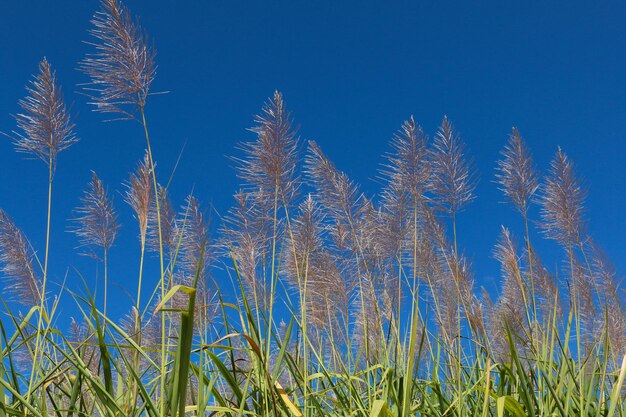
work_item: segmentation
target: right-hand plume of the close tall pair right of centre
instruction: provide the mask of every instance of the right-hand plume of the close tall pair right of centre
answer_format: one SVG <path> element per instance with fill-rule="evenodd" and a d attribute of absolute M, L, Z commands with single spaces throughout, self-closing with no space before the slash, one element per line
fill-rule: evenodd
<path fill-rule="evenodd" d="M 462 210 L 474 199 L 477 181 L 465 144 L 445 116 L 435 135 L 431 163 L 435 201 L 449 213 Z"/>

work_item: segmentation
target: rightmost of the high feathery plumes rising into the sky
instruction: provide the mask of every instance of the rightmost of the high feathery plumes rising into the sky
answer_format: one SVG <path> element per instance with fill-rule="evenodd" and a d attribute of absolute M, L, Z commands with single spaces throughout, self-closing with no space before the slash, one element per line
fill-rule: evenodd
<path fill-rule="evenodd" d="M 586 195 L 574 173 L 573 163 L 559 148 L 550 165 L 540 199 L 541 227 L 549 238 L 566 246 L 580 240 Z"/>

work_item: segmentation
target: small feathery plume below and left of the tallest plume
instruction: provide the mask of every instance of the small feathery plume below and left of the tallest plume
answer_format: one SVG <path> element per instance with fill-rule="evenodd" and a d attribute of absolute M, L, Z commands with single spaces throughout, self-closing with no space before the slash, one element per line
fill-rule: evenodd
<path fill-rule="evenodd" d="M 76 226 L 72 232 L 78 237 L 81 246 L 107 251 L 113 246 L 119 225 L 113 203 L 95 172 L 92 172 L 81 203 L 76 209 L 78 217 L 73 220 Z"/>

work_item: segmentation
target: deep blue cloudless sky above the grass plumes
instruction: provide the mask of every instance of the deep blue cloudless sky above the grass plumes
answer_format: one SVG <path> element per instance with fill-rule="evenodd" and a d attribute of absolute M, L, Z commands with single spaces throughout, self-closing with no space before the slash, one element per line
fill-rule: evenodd
<path fill-rule="evenodd" d="M 528 4 L 526 4 L 528 3 Z M 227 155 L 253 139 L 245 129 L 275 89 L 303 139 L 315 139 L 367 192 L 402 121 L 433 133 L 447 114 L 476 161 L 478 198 L 459 218 L 460 244 L 479 285 L 498 274 L 492 247 L 501 224 L 521 223 L 493 183 L 495 161 L 517 126 L 545 170 L 562 146 L 590 186 L 590 231 L 626 268 L 626 4 L 606 2 L 370 2 L 127 0 L 154 42 L 158 73 L 148 118 L 162 172 L 174 166 L 174 198 L 192 188 L 225 212 L 237 188 Z M 122 237 L 111 279 L 126 278 L 136 225 L 120 184 L 142 156 L 130 122 L 102 123 L 77 92 L 96 1 L 0 4 L 0 131 L 47 56 L 77 115 L 81 142 L 61 154 L 55 180 L 52 275 L 88 273 L 72 254 L 66 220 L 95 170 L 113 191 Z M 0 207 L 43 250 L 46 168 L 0 140 Z M 531 216 L 537 218 L 537 209 Z M 546 245 L 554 250 L 554 245 Z M 555 258 L 556 259 L 556 258 Z M 556 262 L 556 260 L 553 260 Z M 126 265 L 126 266 L 125 266 Z M 132 264 L 135 268 L 135 264 Z M 87 271 L 85 271 L 87 269 Z M 70 269 L 70 282 L 75 273 Z M 132 276 L 135 276 L 133 269 Z M 119 290 L 120 295 L 123 294 Z M 131 289 L 131 292 L 133 289 Z"/>

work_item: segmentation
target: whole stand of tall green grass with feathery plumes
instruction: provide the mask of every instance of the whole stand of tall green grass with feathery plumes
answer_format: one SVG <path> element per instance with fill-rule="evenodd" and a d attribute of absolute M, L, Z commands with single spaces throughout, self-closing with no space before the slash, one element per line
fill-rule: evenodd
<path fill-rule="evenodd" d="M 145 111 L 155 55 L 138 21 L 101 0 L 90 36 L 89 102 L 139 122 L 146 144 L 123 184 L 139 239 L 126 260 L 139 273 L 125 282 L 137 295 L 124 319 L 107 313 L 118 219 L 94 173 L 71 231 L 101 262 L 104 292 L 92 294 L 89 276 L 61 285 L 82 319 L 57 325 L 50 202 L 57 157 L 78 139 L 44 59 L 12 140 L 49 169 L 45 248 L 0 208 L 0 417 L 626 416 L 624 289 L 586 234 L 585 189 L 563 150 L 540 177 L 516 129 L 504 144 L 495 180 L 526 233 L 502 229 L 492 299 L 457 243 L 476 176 L 447 118 L 432 137 L 407 120 L 381 190 L 366 196 L 302 143 L 276 92 L 235 159 L 234 206 L 210 226 L 193 195 L 176 208 L 155 169 Z M 560 270 L 542 264 L 534 227 L 562 247 Z M 144 277 L 148 262 L 158 277 Z"/>

